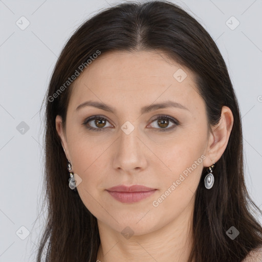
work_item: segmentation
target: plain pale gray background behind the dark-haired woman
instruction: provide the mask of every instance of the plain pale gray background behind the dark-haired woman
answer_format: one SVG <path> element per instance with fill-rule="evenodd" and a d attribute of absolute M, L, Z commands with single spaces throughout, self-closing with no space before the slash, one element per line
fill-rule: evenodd
<path fill-rule="evenodd" d="M 248 191 L 261 209 L 262 1 L 172 2 L 204 26 L 226 61 L 242 114 Z M 120 2 L 0 0 L 0 261 L 35 260 L 46 219 L 46 212 L 38 217 L 45 172 L 41 102 L 64 43 L 114 3 Z"/>

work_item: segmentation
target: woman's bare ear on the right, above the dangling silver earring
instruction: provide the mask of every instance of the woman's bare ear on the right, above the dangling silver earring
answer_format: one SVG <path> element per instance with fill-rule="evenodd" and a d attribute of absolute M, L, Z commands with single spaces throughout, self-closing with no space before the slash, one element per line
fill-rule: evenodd
<path fill-rule="evenodd" d="M 211 166 L 223 155 L 231 134 L 233 121 L 234 118 L 230 108 L 223 106 L 219 123 L 211 127 L 212 132 L 210 131 L 208 145 L 206 148 L 207 158 L 203 162 L 205 167 Z"/>

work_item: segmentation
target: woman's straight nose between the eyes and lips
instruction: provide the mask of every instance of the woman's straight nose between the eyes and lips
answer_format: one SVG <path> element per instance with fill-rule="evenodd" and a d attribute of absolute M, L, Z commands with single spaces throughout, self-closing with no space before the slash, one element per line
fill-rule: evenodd
<path fill-rule="evenodd" d="M 113 159 L 113 168 L 121 169 L 123 173 L 129 174 L 144 170 L 147 166 L 148 148 L 139 136 L 138 127 L 135 127 L 130 134 L 122 129 L 119 133 L 120 136 L 116 141 L 118 150 Z"/>

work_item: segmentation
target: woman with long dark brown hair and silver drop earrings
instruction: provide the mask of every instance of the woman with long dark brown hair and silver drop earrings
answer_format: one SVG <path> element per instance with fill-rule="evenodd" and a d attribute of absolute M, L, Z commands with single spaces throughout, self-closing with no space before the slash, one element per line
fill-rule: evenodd
<path fill-rule="evenodd" d="M 46 101 L 38 261 L 46 245 L 52 262 L 261 261 L 226 64 L 181 8 L 94 15 L 63 48 Z"/>

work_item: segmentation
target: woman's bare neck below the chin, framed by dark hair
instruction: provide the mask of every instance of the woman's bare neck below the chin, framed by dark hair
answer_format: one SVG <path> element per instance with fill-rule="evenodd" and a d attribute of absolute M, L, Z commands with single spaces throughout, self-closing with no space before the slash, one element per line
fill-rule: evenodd
<path fill-rule="evenodd" d="M 193 205 L 164 227 L 144 235 L 125 239 L 121 233 L 98 220 L 100 246 L 97 260 L 176 261 L 188 260 L 192 249 Z"/>

